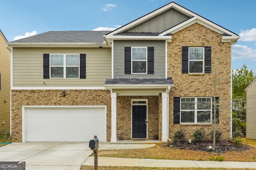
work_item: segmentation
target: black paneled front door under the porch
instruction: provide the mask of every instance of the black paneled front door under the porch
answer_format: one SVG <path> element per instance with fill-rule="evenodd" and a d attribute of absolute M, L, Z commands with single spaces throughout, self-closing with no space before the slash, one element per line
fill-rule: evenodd
<path fill-rule="evenodd" d="M 132 106 L 132 138 L 147 137 L 147 107 Z"/>

